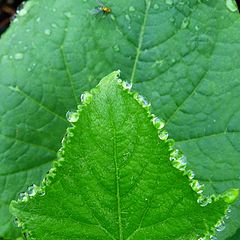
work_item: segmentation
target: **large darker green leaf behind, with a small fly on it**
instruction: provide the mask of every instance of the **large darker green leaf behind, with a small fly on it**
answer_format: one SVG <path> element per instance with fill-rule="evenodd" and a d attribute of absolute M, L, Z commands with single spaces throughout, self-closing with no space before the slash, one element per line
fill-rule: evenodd
<path fill-rule="evenodd" d="M 95 0 L 31 0 L 1 39 L 0 236 L 13 236 L 10 200 L 55 158 L 66 111 L 116 68 L 166 120 L 207 193 L 240 186 L 238 13 L 224 0 L 109 4 L 103 18 L 89 14 Z M 239 226 L 232 214 L 226 236 Z"/>

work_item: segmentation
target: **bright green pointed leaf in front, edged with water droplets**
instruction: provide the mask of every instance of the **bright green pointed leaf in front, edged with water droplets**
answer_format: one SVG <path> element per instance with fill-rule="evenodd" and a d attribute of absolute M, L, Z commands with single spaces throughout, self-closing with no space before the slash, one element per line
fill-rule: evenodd
<path fill-rule="evenodd" d="M 224 215 L 230 193 L 197 203 L 169 161 L 176 150 L 159 138 L 159 121 L 118 73 L 84 98 L 42 187 L 12 203 L 32 239 L 197 240 Z"/>

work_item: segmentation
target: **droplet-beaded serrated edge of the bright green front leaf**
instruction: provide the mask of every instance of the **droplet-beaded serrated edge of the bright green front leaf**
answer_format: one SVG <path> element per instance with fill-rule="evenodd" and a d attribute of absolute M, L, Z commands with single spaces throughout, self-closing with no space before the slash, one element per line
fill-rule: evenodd
<path fill-rule="evenodd" d="M 114 80 L 117 81 L 118 85 L 122 87 L 123 91 L 128 92 L 128 94 L 131 95 L 133 97 L 133 99 L 135 101 L 137 101 L 139 103 L 139 105 L 141 105 L 145 109 L 150 122 L 153 124 L 153 126 L 159 132 L 159 138 L 162 141 L 165 141 L 168 143 L 169 153 L 170 153 L 169 160 L 172 162 L 172 166 L 174 168 L 178 169 L 180 172 L 182 172 L 183 176 L 186 176 L 188 178 L 190 187 L 199 196 L 197 199 L 197 202 L 200 205 L 201 205 L 201 202 L 204 202 L 204 204 L 201 205 L 202 207 L 205 207 L 208 204 L 215 202 L 219 199 L 224 199 L 224 197 L 226 195 L 228 195 L 229 192 L 231 192 L 232 190 L 238 190 L 238 192 L 239 192 L 239 189 L 230 189 L 229 191 L 226 191 L 225 193 L 220 194 L 218 196 L 216 196 L 214 194 L 212 194 L 210 196 L 203 195 L 204 185 L 200 184 L 198 180 L 194 179 L 194 176 L 195 176 L 194 172 L 187 168 L 186 156 L 179 149 L 175 148 L 174 139 L 168 138 L 168 133 L 163 127 L 164 123 L 161 124 L 159 127 L 159 122 L 156 122 L 156 119 L 158 119 L 158 117 L 151 113 L 150 102 L 147 101 L 147 99 L 145 97 L 143 97 L 142 95 L 140 95 L 139 93 L 131 91 L 132 84 L 121 80 L 119 78 L 119 76 L 120 76 L 120 70 L 114 71 L 111 74 L 104 77 L 95 88 L 91 89 L 89 92 L 84 92 L 83 95 L 81 96 L 81 104 L 78 105 L 77 111 L 74 112 L 75 117 L 76 117 L 76 114 L 79 117 L 82 110 L 84 108 L 86 108 L 92 102 L 93 95 L 99 91 L 99 85 L 104 80 L 112 78 L 112 81 L 114 81 Z M 78 118 L 76 118 L 76 119 L 78 120 Z M 62 162 L 65 161 L 64 160 L 64 149 L 65 149 L 66 144 L 71 141 L 71 138 L 73 137 L 74 129 L 75 129 L 75 124 L 74 124 L 74 122 L 71 122 L 71 126 L 67 128 L 66 134 L 62 140 L 62 147 L 59 149 L 59 151 L 57 153 L 57 160 L 53 161 L 52 168 L 47 172 L 47 174 L 46 174 L 45 178 L 42 180 L 42 183 L 40 184 L 40 186 L 31 185 L 29 187 L 29 188 L 31 188 L 31 194 L 29 194 L 29 188 L 28 188 L 28 190 L 25 193 L 21 193 L 23 195 L 23 197 L 20 197 L 17 201 L 15 201 L 15 200 L 12 201 L 12 203 L 20 203 L 20 202 L 26 203 L 30 199 L 34 198 L 36 195 L 40 195 L 40 196 L 45 195 L 46 187 L 51 185 L 51 181 L 55 177 L 58 168 L 62 167 Z M 162 133 L 164 133 L 164 135 Z M 162 136 L 164 136 L 164 137 L 161 138 Z M 227 201 L 225 201 L 225 202 L 227 204 L 230 204 Z M 12 203 L 11 203 L 11 205 L 12 205 Z M 10 205 L 10 208 L 11 208 L 11 205 Z M 214 240 L 215 239 L 214 235 L 216 235 L 217 230 L 220 229 L 220 227 L 224 225 L 224 221 L 225 221 L 225 219 L 228 218 L 228 214 L 230 212 L 231 212 L 231 206 L 229 205 L 228 208 L 226 208 L 226 210 L 225 210 L 225 213 L 224 213 L 225 215 L 212 228 L 210 228 L 208 230 L 208 232 L 205 233 L 204 236 L 198 237 L 198 240 L 207 240 L 207 239 Z M 15 225 L 17 225 L 18 227 L 20 227 L 22 229 L 22 232 L 27 239 L 35 240 L 35 238 L 32 235 L 32 232 L 28 230 L 25 223 L 23 223 L 19 219 L 15 218 Z"/>

